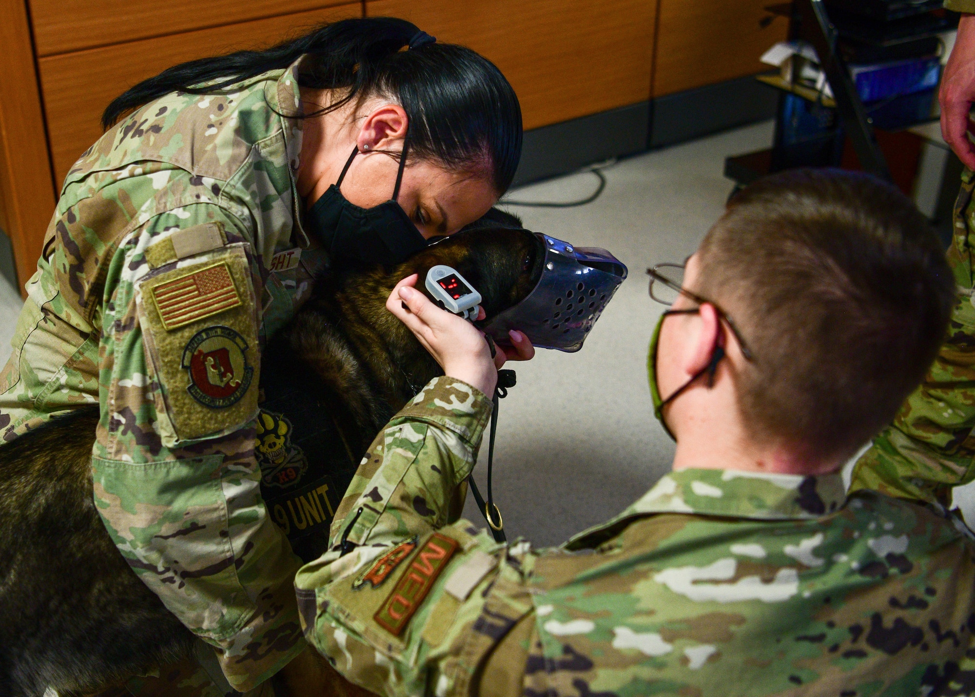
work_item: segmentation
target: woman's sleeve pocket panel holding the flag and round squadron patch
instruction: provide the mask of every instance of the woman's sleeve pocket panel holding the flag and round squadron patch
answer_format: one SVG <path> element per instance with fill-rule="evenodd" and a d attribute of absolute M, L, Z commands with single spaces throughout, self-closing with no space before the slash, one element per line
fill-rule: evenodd
<path fill-rule="evenodd" d="M 137 284 L 163 444 L 236 431 L 257 413 L 254 286 L 244 245 L 179 260 Z"/>

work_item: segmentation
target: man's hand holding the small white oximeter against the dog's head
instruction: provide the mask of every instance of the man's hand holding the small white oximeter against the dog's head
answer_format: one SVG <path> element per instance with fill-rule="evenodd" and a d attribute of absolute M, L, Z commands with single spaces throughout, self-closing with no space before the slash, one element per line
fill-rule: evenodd
<path fill-rule="evenodd" d="M 407 325 L 446 375 L 491 396 L 497 384 L 497 369 L 508 359 L 508 352 L 497 347 L 492 359 L 485 335 L 466 319 L 438 308 L 415 290 L 417 279 L 413 273 L 397 283 L 386 300 L 386 309 Z M 484 309 L 481 312 L 478 319 L 484 317 Z M 513 359 L 527 360 L 534 355 L 535 349 L 521 332 L 511 332 L 511 340 L 508 351 Z"/>

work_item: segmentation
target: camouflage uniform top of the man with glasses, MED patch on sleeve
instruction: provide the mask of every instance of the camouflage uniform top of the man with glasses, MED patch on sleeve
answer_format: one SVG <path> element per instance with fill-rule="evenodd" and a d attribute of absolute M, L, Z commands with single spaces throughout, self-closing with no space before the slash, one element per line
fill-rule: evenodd
<path fill-rule="evenodd" d="M 295 577 L 305 636 L 395 695 L 975 692 L 975 544 L 943 510 L 838 474 L 682 470 L 558 549 L 451 520 L 489 418 L 427 385 L 370 447 L 328 554 Z M 343 537 L 358 545 L 348 554 Z"/>

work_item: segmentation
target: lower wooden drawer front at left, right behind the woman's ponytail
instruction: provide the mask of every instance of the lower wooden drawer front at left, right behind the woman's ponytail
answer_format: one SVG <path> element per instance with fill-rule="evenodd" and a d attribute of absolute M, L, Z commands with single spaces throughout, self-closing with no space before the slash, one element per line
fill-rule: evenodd
<path fill-rule="evenodd" d="M 101 136 L 101 112 L 137 82 L 179 62 L 268 46 L 325 21 L 360 17 L 358 2 L 269 20 L 49 56 L 38 61 L 55 181 Z"/>

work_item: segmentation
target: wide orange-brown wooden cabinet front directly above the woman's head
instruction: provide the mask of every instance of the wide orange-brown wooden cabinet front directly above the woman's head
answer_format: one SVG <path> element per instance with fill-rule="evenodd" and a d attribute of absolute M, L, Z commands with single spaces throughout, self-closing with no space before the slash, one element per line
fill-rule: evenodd
<path fill-rule="evenodd" d="M 369 17 L 402 17 L 494 62 L 526 129 L 649 99 L 655 10 L 650 0 L 366 2 Z"/>

